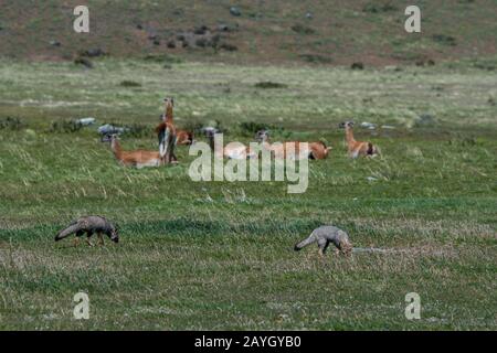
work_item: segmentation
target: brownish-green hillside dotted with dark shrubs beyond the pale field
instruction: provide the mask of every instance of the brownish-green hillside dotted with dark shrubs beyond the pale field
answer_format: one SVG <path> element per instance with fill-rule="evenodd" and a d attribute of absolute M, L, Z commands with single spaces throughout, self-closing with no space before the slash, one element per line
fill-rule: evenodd
<path fill-rule="evenodd" d="M 72 12 L 77 4 L 89 7 L 89 34 L 73 31 Z M 81 52 L 102 49 L 118 57 L 168 53 L 239 64 L 383 65 L 496 53 L 494 0 L 416 1 L 422 10 L 419 34 L 404 31 L 408 4 L 394 0 L 4 0 L 0 55 L 72 60 Z M 231 7 L 240 15 L 233 15 Z"/>

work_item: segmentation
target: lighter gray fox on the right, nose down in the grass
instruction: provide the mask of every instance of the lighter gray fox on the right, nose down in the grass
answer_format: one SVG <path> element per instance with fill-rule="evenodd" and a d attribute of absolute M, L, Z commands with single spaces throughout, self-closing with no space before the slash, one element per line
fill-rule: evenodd
<path fill-rule="evenodd" d="M 350 244 L 347 233 L 331 225 L 325 225 L 314 229 L 309 237 L 295 245 L 294 250 L 298 252 L 315 242 L 318 244 L 319 255 L 321 256 L 325 255 L 329 243 L 332 243 L 343 255 L 350 256 L 352 252 L 352 244 Z"/>

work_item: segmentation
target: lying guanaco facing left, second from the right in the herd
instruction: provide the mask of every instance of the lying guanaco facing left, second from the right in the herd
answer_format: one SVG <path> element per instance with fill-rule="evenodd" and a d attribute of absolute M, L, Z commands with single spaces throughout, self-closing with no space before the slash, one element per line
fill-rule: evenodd
<path fill-rule="evenodd" d="M 263 143 L 263 147 L 271 150 L 275 158 L 286 158 L 287 153 L 306 156 L 309 159 L 325 159 L 328 157 L 331 147 L 326 147 L 321 141 L 307 142 L 307 150 L 302 151 L 302 142 L 283 142 L 274 145 L 269 142 L 269 132 L 267 130 L 260 130 L 255 133 L 255 139 Z"/>

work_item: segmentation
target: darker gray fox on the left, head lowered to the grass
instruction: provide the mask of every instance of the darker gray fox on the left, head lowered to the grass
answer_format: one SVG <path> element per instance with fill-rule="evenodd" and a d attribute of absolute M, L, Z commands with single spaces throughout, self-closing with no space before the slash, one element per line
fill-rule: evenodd
<path fill-rule="evenodd" d="M 89 246 L 93 246 L 92 242 L 89 242 L 89 238 L 94 233 L 98 235 L 99 244 L 102 245 L 104 245 L 104 237 L 102 236 L 102 234 L 106 234 L 114 243 L 119 242 L 117 227 L 106 218 L 101 216 L 86 216 L 73 221 L 68 225 L 68 227 L 57 233 L 57 235 L 55 236 L 55 242 L 59 242 L 60 239 L 63 239 L 74 233 L 76 234 L 76 238 L 74 239 L 75 244 L 77 244 L 77 239 L 85 233 L 87 236 L 86 243 Z"/>

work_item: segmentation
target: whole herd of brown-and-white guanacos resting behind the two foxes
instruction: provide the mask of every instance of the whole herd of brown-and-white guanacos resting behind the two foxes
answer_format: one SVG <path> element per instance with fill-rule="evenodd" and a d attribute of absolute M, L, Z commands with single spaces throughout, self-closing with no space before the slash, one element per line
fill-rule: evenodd
<path fill-rule="evenodd" d="M 166 111 L 161 115 L 161 124 L 156 128 L 159 139 L 158 151 L 124 151 L 119 145 L 117 135 L 105 135 L 102 138 L 103 142 L 110 142 L 110 148 L 114 156 L 123 165 L 145 168 L 177 163 L 178 159 L 175 154 L 176 146 L 189 146 L 194 143 L 192 131 L 176 129 L 172 115 L 175 99 L 165 98 L 163 101 Z M 356 141 L 353 138 L 352 121 L 341 122 L 339 127 L 343 128 L 346 131 L 348 153 L 351 158 L 358 158 L 360 156 L 374 157 L 379 154 L 379 150 L 373 143 L 369 141 Z M 203 128 L 203 132 L 210 141 L 211 148 L 213 148 L 214 136 L 219 132 L 219 130 L 216 128 L 207 127 Z M 293 153 L 302 153 L 300 156 L 307 156 L 309 159 L 326 159 L 331 149 L 330 147 L 326 147 L 326 145 L 321 141 L 307 142 L 307 145 L 303 145 L 298 141 L 273 145 L 269 142 L 269 132 L 267 130 L 257 131 L 255 139 L 257 142 L 262 143 L 263 148 L 271 150 L 275 158 L 286 158 L 287 153 L 292 151 Z M 307 150 L 304 151 L 302 150 L 303 148 L 306 148 Z M 258 156 L 258 153 L 253 152 L 250 147 L 241 147 L 240 145 L 233 146 L 232 143 L 223 147 L 223 150 L 220 153 L 222 153 L 221 157 L 230 159 L 250 159 L 257 158 Z"/>

